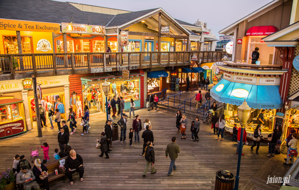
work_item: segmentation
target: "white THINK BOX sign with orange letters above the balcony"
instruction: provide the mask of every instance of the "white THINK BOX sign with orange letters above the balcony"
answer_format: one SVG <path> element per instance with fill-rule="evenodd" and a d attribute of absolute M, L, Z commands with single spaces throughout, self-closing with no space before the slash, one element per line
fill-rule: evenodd
<path fill-rule="evenodd" d="M 105 35 L 105 26 L 99 25 L 86 25 L 74 23 L 61 23 L 62 33 L 76 33 L 76 34 L 96 34 Z"/>

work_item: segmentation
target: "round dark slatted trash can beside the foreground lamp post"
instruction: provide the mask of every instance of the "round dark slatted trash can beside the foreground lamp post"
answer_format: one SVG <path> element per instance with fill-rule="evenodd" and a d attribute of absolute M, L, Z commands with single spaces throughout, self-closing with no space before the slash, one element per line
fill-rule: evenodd
<path fill-rule="evenodd" d="M 232 190 L 235 185 L 235 176 L 227 170 L 216 172 L 215 190 Z"/>

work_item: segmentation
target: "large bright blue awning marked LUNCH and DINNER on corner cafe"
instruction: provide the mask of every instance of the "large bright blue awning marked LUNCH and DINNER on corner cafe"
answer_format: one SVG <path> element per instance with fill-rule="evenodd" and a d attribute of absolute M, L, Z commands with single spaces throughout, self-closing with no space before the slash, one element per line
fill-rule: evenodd
<path fill-rule="evenodd" d="M 281 109 L 283 105 L 278 85 L 250 85 L 221 79 L 211 89 L 211 96 L 233 105 L 241 105 L 246 99 L 249 107 L 254 109 Z"/>

